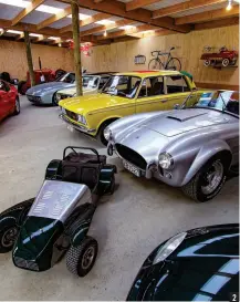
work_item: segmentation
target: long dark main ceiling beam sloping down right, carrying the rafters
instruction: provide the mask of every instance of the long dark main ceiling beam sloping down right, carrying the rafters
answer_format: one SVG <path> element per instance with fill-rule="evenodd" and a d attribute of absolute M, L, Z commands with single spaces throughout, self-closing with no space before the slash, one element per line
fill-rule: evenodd
<path fill-rule="evenodd" d="M 62 2 L 70 3 L 71 0 L 61 0 Z M 121 1 L 104 0 L 104 2 L 95 3 L 94 0 L 76 0 L 79 6 L 85 9 L 91 9 L 100 12 L 109 13 L 125 19 L 131 19 L 136 22 L 142 22 L 158 28 L 174 30 L 176 32 L 189 32 L 191 27 L 189 24 L 176 25 L 174 19 L 170 17 L 152 20 L 153 13 L 146 9 L 137 9 L 126 11 L 126 3 Z M 219 0 L 218 0 L 219 1 Z M 225 0 L 226 1 L 226 0 Z"/>

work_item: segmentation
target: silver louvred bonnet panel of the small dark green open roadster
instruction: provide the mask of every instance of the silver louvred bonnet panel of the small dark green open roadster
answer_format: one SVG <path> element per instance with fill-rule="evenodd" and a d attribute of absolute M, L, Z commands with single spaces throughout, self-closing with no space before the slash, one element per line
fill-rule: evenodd
<path fill-rule="evenodd" d="M 73 210 L 85 202 L 92 202 L 87 186 L 45 180 L 28 216 L 51 218 L 64 223 Z"/>

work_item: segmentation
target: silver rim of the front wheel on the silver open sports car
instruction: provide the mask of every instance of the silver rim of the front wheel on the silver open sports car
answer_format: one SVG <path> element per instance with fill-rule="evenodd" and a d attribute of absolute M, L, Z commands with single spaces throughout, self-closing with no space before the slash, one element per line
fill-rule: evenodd
<path fill-rule="evenodd" d="M 220 185 L 225 174 L 223 165 L 220 160 L 215 162 L 204 175 L 205 186 L 201 190 L 205 195 L 212 194 Z"/>

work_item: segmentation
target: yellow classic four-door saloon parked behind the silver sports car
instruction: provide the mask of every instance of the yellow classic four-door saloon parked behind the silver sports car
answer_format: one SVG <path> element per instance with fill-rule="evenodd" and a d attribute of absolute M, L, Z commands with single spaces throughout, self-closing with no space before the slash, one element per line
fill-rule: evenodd
<path fill-rule="evenodd" d="M 173 110 L 186 97 L 201 95 L 194 81 L 178 71 L 128 72 L 113 75 L 101 93 L 63 100 L 60 117 L 70 129 L 98 137 L 111 123 L 136 113 Z"/>

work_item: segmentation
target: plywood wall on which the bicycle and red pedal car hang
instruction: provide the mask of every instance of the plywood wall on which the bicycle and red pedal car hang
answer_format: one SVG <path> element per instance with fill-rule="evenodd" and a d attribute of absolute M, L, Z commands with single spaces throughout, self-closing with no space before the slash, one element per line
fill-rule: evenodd
<path fill-rule="evenodd" d="M 239 85 L 239 70 L 216 70 L 205 67 L 200 56 L 205 45 L 239 50 L 239 27 L 194 31 L 188 34 L 171 34 L 166 37 L 146 38 L 140 40 L 113 43 L 93 48 L 92 56 L 83 59 L 83 65 L 90 72 L 97 71 L 134 71 L 146 70 L 154 50 L 176 48 L 174 55 L 179 58 L 182 70 L 189 71 L 198 83 Z M 144 54 L 145 65 L 135 65 L 134 56 Z"/>

